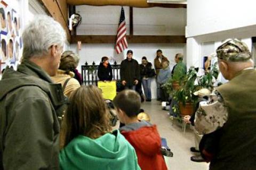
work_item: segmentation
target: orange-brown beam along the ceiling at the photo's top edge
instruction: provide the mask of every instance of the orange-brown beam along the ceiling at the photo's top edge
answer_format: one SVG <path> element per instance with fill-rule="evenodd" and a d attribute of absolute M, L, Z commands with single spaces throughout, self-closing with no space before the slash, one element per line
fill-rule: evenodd
<path fill-rule="evenodd" d="M 169 8 L 187 8 L 186 4 L 159 4 L 147 3 L 147 0 L 67 0 L 70 5 L 93 5 L 93 6 L 131 6 L 131 7 L 169 7 Z"/>

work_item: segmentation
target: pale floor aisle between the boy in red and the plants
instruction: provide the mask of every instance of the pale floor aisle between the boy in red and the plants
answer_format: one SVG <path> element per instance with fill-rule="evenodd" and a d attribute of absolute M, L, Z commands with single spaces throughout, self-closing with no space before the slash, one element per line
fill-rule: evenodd
<path fill-rule="evenodd" d="M 209 164 L 195 163 L 190 161 L 193 154 L 189 148 L 194 146 L 193 131 L 187 125 L 186 133 L 181 129 L 181 124 L 172 120 L 167 115 L 168 111 L 162 110 L 161 103 L 153 100 L 151 102 L 142 103 L 144 109 L 151 118 L 151 123 L 156 124 L 158 131 L 162 137 L 165 137 L 169 147 L 173 152 L 173 157 L 165 157 L 165 161 L 169 170 L 206 170 Z"/>

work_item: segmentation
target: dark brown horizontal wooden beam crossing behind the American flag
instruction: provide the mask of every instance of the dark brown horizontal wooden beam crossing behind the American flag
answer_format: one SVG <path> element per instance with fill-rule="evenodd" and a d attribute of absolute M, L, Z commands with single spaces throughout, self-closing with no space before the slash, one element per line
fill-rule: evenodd
<path fill-rule="evenodd" d="M 152 35 L 128 35 L 129 43 L 186 43 L 185 36 L 152 36 Z M 81 41 L 85 44 L 115 43 L 115 35 L 76 35 L 71 37 L 71 43 Z"/>

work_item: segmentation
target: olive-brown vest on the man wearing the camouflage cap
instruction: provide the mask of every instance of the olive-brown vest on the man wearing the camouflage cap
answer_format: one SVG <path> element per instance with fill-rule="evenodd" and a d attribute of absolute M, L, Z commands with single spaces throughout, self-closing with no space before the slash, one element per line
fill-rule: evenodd
<path fill-rule="evenodd" d="M 217 154 L 210 170 L 253 170 L 256 167 L 255 79 L 256 70 L 247 69 L 217 88 L 228 108 L 228 120 L 220 128 Z"/>

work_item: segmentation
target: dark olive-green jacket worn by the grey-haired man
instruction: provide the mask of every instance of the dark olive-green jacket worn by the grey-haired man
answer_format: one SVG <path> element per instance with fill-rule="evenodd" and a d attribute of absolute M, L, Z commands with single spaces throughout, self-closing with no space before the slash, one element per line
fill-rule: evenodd
<path fill-rule="evenodd" d="M 0 169 L 59 169 L 57 115 L 66 98 L 35 63 L 6 69 L 0 81 Z"/>

